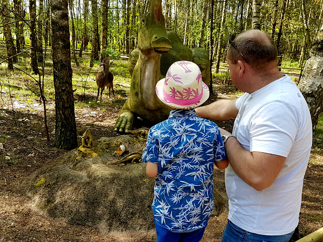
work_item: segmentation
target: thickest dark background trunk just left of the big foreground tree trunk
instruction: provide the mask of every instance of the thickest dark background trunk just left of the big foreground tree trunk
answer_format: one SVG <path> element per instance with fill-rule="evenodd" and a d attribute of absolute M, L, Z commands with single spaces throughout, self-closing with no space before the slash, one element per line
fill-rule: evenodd
<path fill-rule="evenodd" d="M 38 74 L 37 62 L 37 40 L 36 40 L 36 1 L 29 0 L 29 15 L 30 15 L 30 68 L 34 74 Z"/>

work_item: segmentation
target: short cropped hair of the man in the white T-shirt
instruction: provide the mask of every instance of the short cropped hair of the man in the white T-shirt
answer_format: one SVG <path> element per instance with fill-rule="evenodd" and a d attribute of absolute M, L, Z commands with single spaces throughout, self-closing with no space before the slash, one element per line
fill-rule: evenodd
<path fill-rule="evenodd" d="M 239 34 L 233 43 L 248 61 L 253 70 L 262 71 L 268 62 L 276 61 L 278 51 L 272 37 L 265 32 L 256 29 L 247 30 Z M 228 47 L 227 57 L 233 64 L 242 60 L 241 54 L 231 44 Z"/>

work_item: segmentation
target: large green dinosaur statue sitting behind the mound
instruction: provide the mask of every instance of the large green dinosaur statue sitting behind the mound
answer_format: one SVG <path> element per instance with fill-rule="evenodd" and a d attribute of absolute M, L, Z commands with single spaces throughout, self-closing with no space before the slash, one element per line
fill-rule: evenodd
<path fill-rule="evenodd" d="M 176 33 L 167 32 L 161 12 L 161 0 L 150 0 L 148 13 L 140 22 L 138 47 L 129 55 L 128 69 L 132 75 L 130 96 L 119 114 L 115 131 L 129 133 L 135 116 L 151 124 L 168 118 L 171 108 L 158 99 L 155 86 L 177 61 L 197 64 L 203 82 L 209 85 L 208 52 L 203 48 L 191 49 L 182 43 Z"/>

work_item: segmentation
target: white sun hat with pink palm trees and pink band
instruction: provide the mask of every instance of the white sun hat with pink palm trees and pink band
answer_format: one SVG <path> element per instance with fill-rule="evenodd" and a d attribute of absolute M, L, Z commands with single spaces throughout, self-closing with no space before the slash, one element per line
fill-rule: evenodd
<path fill-rule="evenodd" d="M 156 94 L 160 101 L 172 108 L 188 109 L 205 102 L 209 90 L 195 63 L 179 61 L 168 69 L 166 78 L 157 82 Z"/>

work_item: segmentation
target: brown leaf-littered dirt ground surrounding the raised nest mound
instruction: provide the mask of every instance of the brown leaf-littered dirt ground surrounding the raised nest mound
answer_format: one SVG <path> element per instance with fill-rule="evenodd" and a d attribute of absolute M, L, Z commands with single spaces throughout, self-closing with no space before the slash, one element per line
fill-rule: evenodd
<path fill-rule="evenodd" d="M 219 97 L 229 97 L 225 90 Z M 89 95 L 94 99 L 96 94 Z M 77 97 L 76 97 L 77 99 Z M 209 102 L 214 100 L 210 96 Z M 104 96 L 104 100 L 109 98 Z M 113 131 L 122 106 L 109 103 L 95 107 L 76 108 L 78 142 L 86 129 L 94 141 L 101 137 L 113 137 Z M 131 232 L 103 233 L 100 228 L 71 225 L 64 220 L 52 219 L 31 206 L 22 190 L 28 176 L 50 160 L 68 152 L 53 148 L 55 138 L 55 101 L 47 100 L 47 117 L 50 142 L 46 141 L 43 126 L 43 107 L 34 103 L 11 101 L 6 93 L 0 99 L 0 241 L 155 241 L 153 233 L 134 235 Z M 15 112 L 13 112 L 13 106 Z M 217 122 L 221 128 L 230 129 L 232 121 Z M 140 124 L 139 124 L 140 125 Z M 138 128 L 138 127 L 135 127 Z M 312 149 L 311 160 L 306 171 L 303 201 L 300 212 L 299 234 L 305 236 L 323 226 L 323 151 Z M 224 196 L 224 172 L 214 171 L 214 187 Z M 228 212 L 211 217 L 202 242 L 221 241 L 227 223 Z"/>

